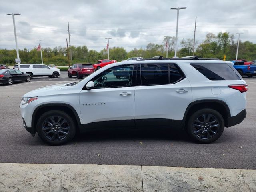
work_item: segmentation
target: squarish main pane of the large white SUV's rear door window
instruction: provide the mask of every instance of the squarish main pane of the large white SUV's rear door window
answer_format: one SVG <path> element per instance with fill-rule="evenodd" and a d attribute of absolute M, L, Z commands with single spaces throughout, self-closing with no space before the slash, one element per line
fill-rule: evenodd
<path fill-rule="evenodd" d="M 168 64 L 142 64 L 141 85 L 169 84 Z"/>

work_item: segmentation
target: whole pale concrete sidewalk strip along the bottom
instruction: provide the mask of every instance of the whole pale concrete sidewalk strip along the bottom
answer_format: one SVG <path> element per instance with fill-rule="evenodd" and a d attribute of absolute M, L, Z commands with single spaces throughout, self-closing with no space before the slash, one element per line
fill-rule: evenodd
<path fill-rule="evenodd" d="M 256 170 L 0 163 L 0 192 L 256 192 Z"/>

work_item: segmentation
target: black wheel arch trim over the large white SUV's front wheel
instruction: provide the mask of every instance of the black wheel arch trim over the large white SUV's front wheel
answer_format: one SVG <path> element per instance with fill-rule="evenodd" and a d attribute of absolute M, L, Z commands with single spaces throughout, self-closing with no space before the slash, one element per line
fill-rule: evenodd
<path fill-rule="evenodd" d="M 37 124 L 38 118 L 40 117 L 41 114 L 49 110 L 60 110 L 60 111 L 66 112 L 72 119 L 74 119 L 76 130 L 80 131 L 80 129 L 82 128 L 80 118 L 76 110 L 71 105 L 64 104 L 64 103 L 49 103 L 49 104 L 40 105 L 34 110 L 32 115 L 32 120 L 31 120 L 32 121 L 31 126 L 34 133 L 36 133 L 36 124 Z"/>

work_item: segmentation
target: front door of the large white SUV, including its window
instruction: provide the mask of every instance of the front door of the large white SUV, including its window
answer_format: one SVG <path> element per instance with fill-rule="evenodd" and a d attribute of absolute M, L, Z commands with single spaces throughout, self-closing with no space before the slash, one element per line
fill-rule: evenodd
<path fill-rule="evenodd" d="M 116 66 L 92 78 L 94 89 L 80 92 L 80 111 L 85 128 L 134 126 L 134 65 Z M 117 78 L 114 73 L 128 70 Z"/>

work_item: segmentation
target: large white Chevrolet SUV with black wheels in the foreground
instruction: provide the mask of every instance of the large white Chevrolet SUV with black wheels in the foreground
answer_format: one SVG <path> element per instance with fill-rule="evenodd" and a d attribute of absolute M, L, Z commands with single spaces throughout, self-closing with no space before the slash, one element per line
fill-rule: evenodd
<path fill-rule="evenodd" d="M 52 145 L 76 132 L 135 126 L 180 127 L 196 142 L 210 143 L 246 117 L 246 91 L 246 82 L 225 61 L 141 60 L 28 92 L 20 110 L 26 130 Z"/>

